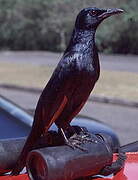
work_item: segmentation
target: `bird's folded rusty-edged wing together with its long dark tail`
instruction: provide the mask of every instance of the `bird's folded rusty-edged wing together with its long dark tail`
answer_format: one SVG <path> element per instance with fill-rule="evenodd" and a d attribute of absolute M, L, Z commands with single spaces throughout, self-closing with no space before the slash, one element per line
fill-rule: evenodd
<path fill-rule="evenodd" d="M 44 88 L 36 107 L 32 130 L 12 171 L 13 175 L 19 174 L 23 169 L 28 152 L 33 149 L 40 136 L 48 131 L 66 106 L 72 93 L 74 68 L 75 63 L 71 61 L 70 56 L 64 56 Z"/>

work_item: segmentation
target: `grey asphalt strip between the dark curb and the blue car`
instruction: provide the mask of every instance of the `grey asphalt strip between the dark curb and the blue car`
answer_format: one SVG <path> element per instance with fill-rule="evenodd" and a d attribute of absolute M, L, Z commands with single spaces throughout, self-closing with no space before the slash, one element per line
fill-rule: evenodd
<path fill-rule="evenodd" d="M 0 94 L 24 109 L 35 109 L 39 93 L 12 91 L 0 88 Z M 118 134 L 122 145 L 138 140 L 138 108 L 88 101 L 80 112 L 108 124 Z"/>

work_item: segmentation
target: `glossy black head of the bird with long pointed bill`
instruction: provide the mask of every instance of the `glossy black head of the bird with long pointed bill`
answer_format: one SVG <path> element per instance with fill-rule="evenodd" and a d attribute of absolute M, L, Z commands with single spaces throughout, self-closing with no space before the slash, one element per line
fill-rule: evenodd
<path fill-rule="evenodd" d="M 122 9 L 85 8 L 77 16 L 75 27 L 83 30 L 96 30 L 97 26 L 106 18 L 122 13 Z"/>

